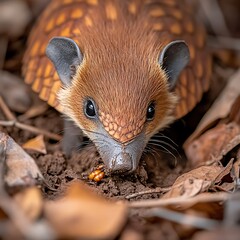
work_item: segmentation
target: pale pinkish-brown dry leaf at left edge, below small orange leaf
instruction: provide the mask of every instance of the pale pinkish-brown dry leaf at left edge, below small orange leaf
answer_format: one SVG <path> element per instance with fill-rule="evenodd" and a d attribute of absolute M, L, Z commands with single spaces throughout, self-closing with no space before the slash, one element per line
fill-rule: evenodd
<path fill-rule="evenodd" d="M 0 144 L 6 144 L 4 180 L 9 187 L 35 185 L 43 180 L 35 161 L 11 137 L 0 132 Z"/>

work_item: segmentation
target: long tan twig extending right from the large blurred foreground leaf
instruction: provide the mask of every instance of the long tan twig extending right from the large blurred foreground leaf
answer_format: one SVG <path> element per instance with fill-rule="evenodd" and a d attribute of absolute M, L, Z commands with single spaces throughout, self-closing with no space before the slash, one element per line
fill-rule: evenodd
<path fill-rule="evenodd" d="M 136 202 L 129 202 L 128 205 L 131 208 L 153 208 L 159 206 L 168 206 L 168 205 L 194 205 L 199 202 L 220 202 L 226 201 L 229 198 L 229 194 L 227 193 L 202 193 L 195 197 L 185 198 L 185 197 L 177 197 L 177 198 L 168 198 L 168 199 L 152 199 L 152 200 L 143 200 Z"/>

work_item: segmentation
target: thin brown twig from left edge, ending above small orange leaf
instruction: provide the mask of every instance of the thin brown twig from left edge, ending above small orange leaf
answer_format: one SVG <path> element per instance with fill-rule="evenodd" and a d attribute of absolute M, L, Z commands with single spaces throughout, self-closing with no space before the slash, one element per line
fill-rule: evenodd
<path fill-rule="evenodd" d="M 27 130 L 35 134 L 43 134 L 45 137 L 56 140 L 56 141 L 60 141 L 62 139 L 62 137 L 58 134 L 51 133 L 46 130 L 39 129 L 39 128 L 30 126 L 24 123 L 20 123 L 17 121 L 0 121 L 0 125 L 4 127 L 17 127 L 19 129 Z"/>

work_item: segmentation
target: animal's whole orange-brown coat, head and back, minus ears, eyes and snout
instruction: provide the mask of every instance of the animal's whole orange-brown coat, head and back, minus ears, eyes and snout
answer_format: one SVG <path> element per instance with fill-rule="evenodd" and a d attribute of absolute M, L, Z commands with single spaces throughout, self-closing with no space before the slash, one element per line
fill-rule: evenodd
<path fill-rule="evenodd" d="M 45 56 L 54 36 L 72 38 L 84 54 L 72 86 L 58 94 L 64 110 L 56 99 L 58 75 Z M 186 40 L 191 61 L 174 89 L 179 99 L 175 108 L 176 96 L 168 91 L 158 57 L 163 46 L 177 39 Z M 183 0 L 53 0 L 32 31 L 23 72 L 40 98 L 82 129 L 97 130 L 83 113 L 89 96 L 113 124 L 126 123 L 135 133 L 144 129 L 150 137 L 173 119 L 173 110 L 179 118 L 200 101 L 210 82 L 207 59 L 204 32 Z M 156 116 L 142 121 L 152 100 L 157 103 Z"/>

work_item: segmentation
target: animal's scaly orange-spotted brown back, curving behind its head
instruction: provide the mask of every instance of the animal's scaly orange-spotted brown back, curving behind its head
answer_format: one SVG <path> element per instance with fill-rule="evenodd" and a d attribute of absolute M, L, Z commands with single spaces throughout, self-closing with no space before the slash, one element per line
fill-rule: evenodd
<path fill-rule="evenodd" d="M 102 11 L 102 16 L 117 21 L 115 2 L 121 0 L 52 0 L 37 24 L 32 29 L 28 47 L 23 59 L 23 75 L 39 97 L 60 112 L 56 93 L 61 82 L 53 64 L 45 55 L 46 46 L 54 36 L 81 37 L 81 25 L 94 25 L 92 11 Z M 169 41 L 184 39 L 190 50 L 190 64 L 182 72 L 174 89 L 179 97 L 175 110 L 176 118 L 191 111 L 209 88 L 211 59 L 205 49 L 205 31 L 197 24 L 192 8 L 179 0 L 126 0 L 122 1 L 129 21 L 139 14 L 145 14 L 153 31 L 167 36 Z"/>

